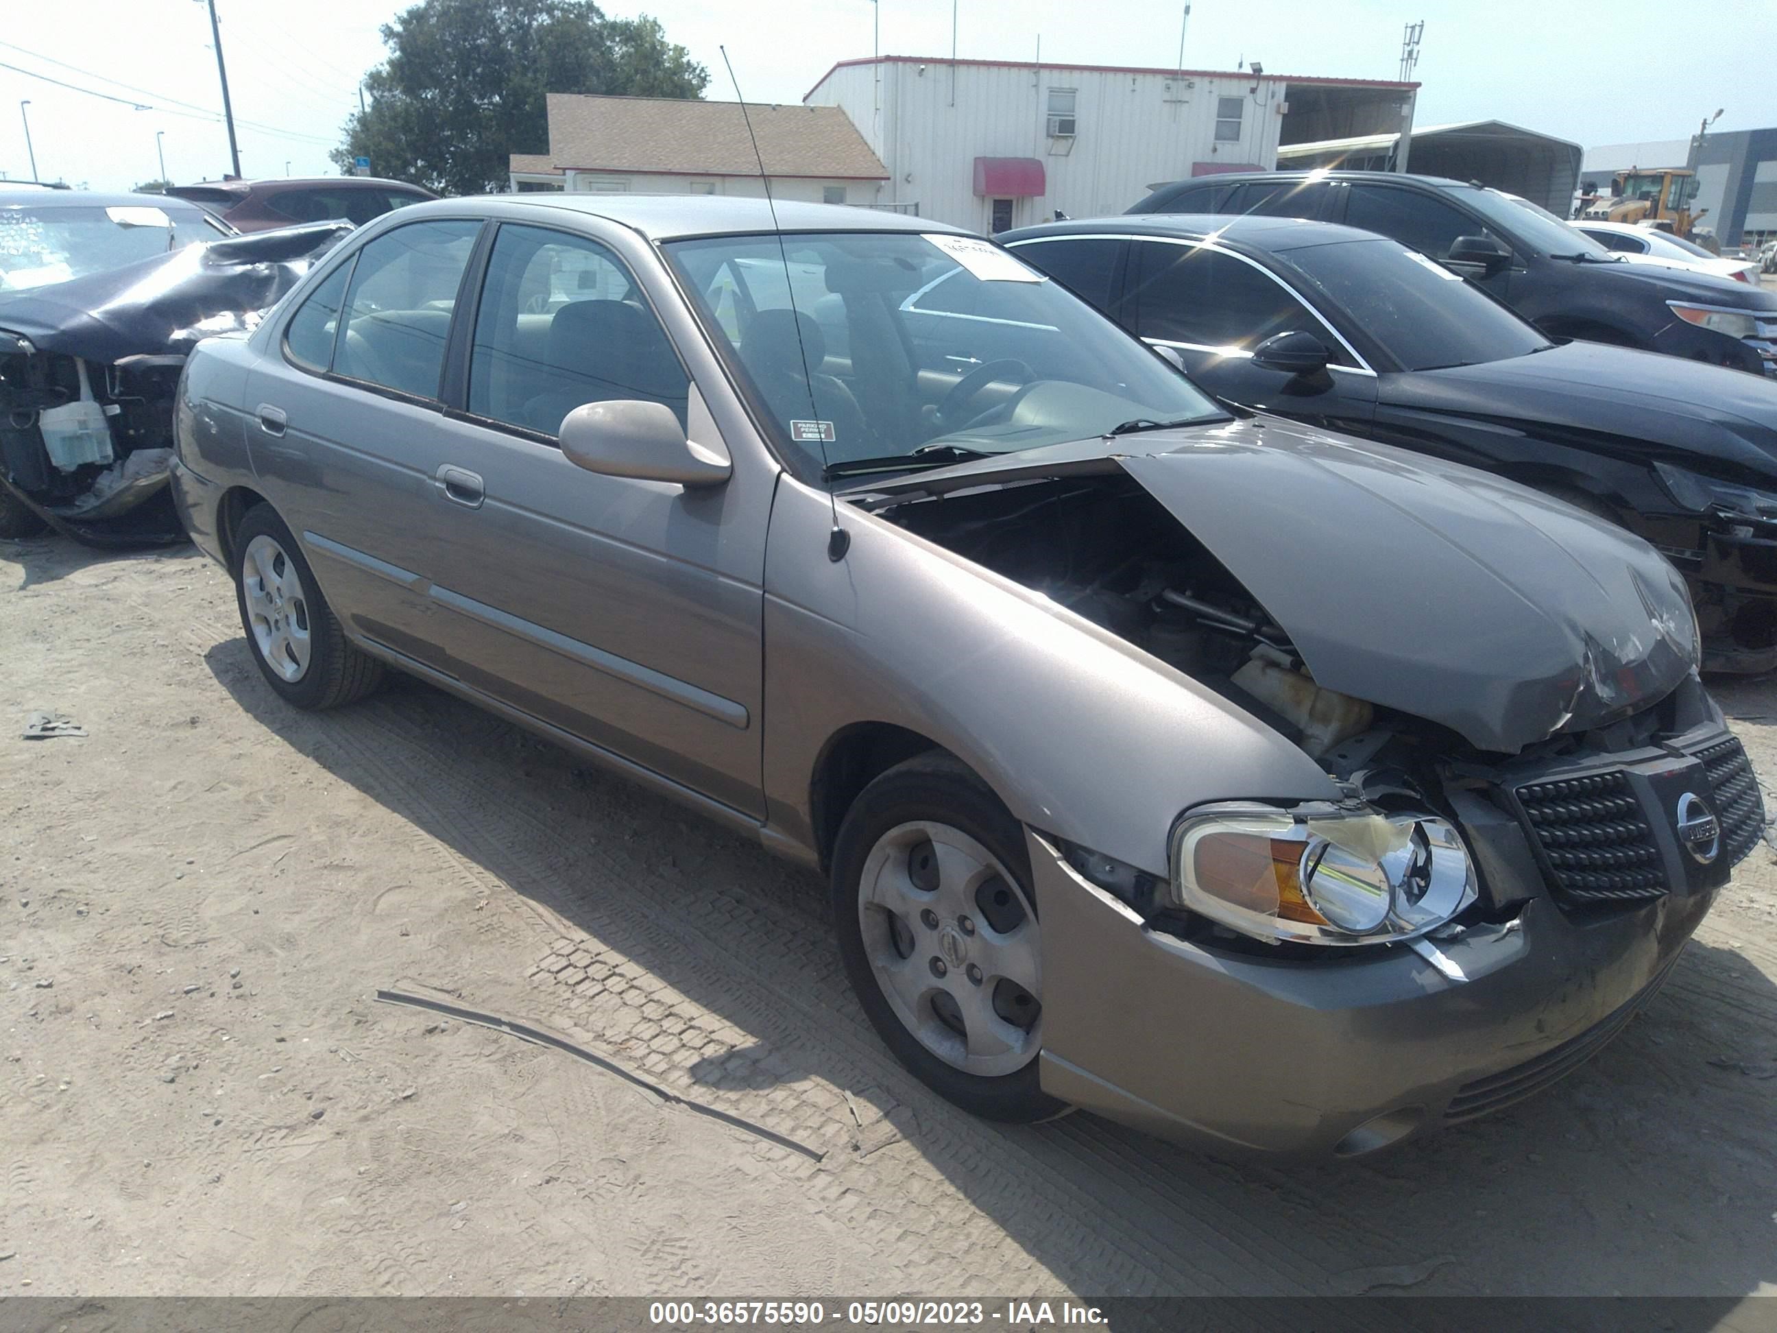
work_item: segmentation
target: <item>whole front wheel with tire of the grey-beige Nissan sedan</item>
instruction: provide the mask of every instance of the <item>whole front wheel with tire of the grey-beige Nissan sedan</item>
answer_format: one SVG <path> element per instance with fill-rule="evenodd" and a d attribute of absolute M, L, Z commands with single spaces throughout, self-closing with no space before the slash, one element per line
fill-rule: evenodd
<path fill-rule="evenodd" d="M 871 782 L 833 848 L 833 926 L 865 1017 L 920 1082 L 986 1120 L 1068 1109 L 1038 1084 L 1041 940 L 1024 828 L 945 754 Z"/>

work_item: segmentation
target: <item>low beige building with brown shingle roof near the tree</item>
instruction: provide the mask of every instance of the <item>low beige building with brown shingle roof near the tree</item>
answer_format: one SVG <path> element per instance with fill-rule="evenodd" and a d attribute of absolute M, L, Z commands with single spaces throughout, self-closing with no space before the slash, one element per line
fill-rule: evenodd
<path fill-rule="evenodd" d="M 873 204 L 888 180 L 839 107 L 551 92 L 549 151 L 512 155 L 514 190 L 761 196 Z"/>

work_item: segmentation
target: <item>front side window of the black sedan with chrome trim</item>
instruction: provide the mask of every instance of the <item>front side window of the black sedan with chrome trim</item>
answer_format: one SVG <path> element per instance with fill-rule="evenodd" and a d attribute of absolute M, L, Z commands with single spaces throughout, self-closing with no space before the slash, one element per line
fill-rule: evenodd
<path fill-rule="evenodd" d="M 1251 352 L 1279 332 L 1311 332 L 1335 364 L 1351 354 L 1283 283 L 1246 259 L 1199 245 L 1141 242 L 1136 309 L 1143 338 Z"/>

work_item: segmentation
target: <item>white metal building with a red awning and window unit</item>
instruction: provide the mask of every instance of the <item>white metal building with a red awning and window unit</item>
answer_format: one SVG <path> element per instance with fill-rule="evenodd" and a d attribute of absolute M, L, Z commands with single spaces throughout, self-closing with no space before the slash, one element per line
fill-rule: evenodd
<path fill-rule="evenodd" d="M 841 60 L 803 101 L 881 158 L 874 203 L 976 231 L 1120 213 L 1150 185 L 1271 171 L 1279 144 L 1398 132 L 1418 84 L 1251 71 Z M 855 199 L 853 203 L 865 203 Z"/>

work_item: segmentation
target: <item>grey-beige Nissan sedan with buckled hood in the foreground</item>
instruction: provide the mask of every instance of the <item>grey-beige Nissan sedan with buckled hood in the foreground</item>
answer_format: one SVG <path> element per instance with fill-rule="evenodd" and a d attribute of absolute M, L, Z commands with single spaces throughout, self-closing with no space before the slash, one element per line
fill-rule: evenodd
<path fill-rule="evenodd" d="M 983 1116 L 1356 1155 L 1491 1111 L 1763 826 L 1649 546 L 1226 411 L 922 219 L 403 208 L 195 348 L 172 471 L 277 695 L 393 666 L 819 867 Z"/>

